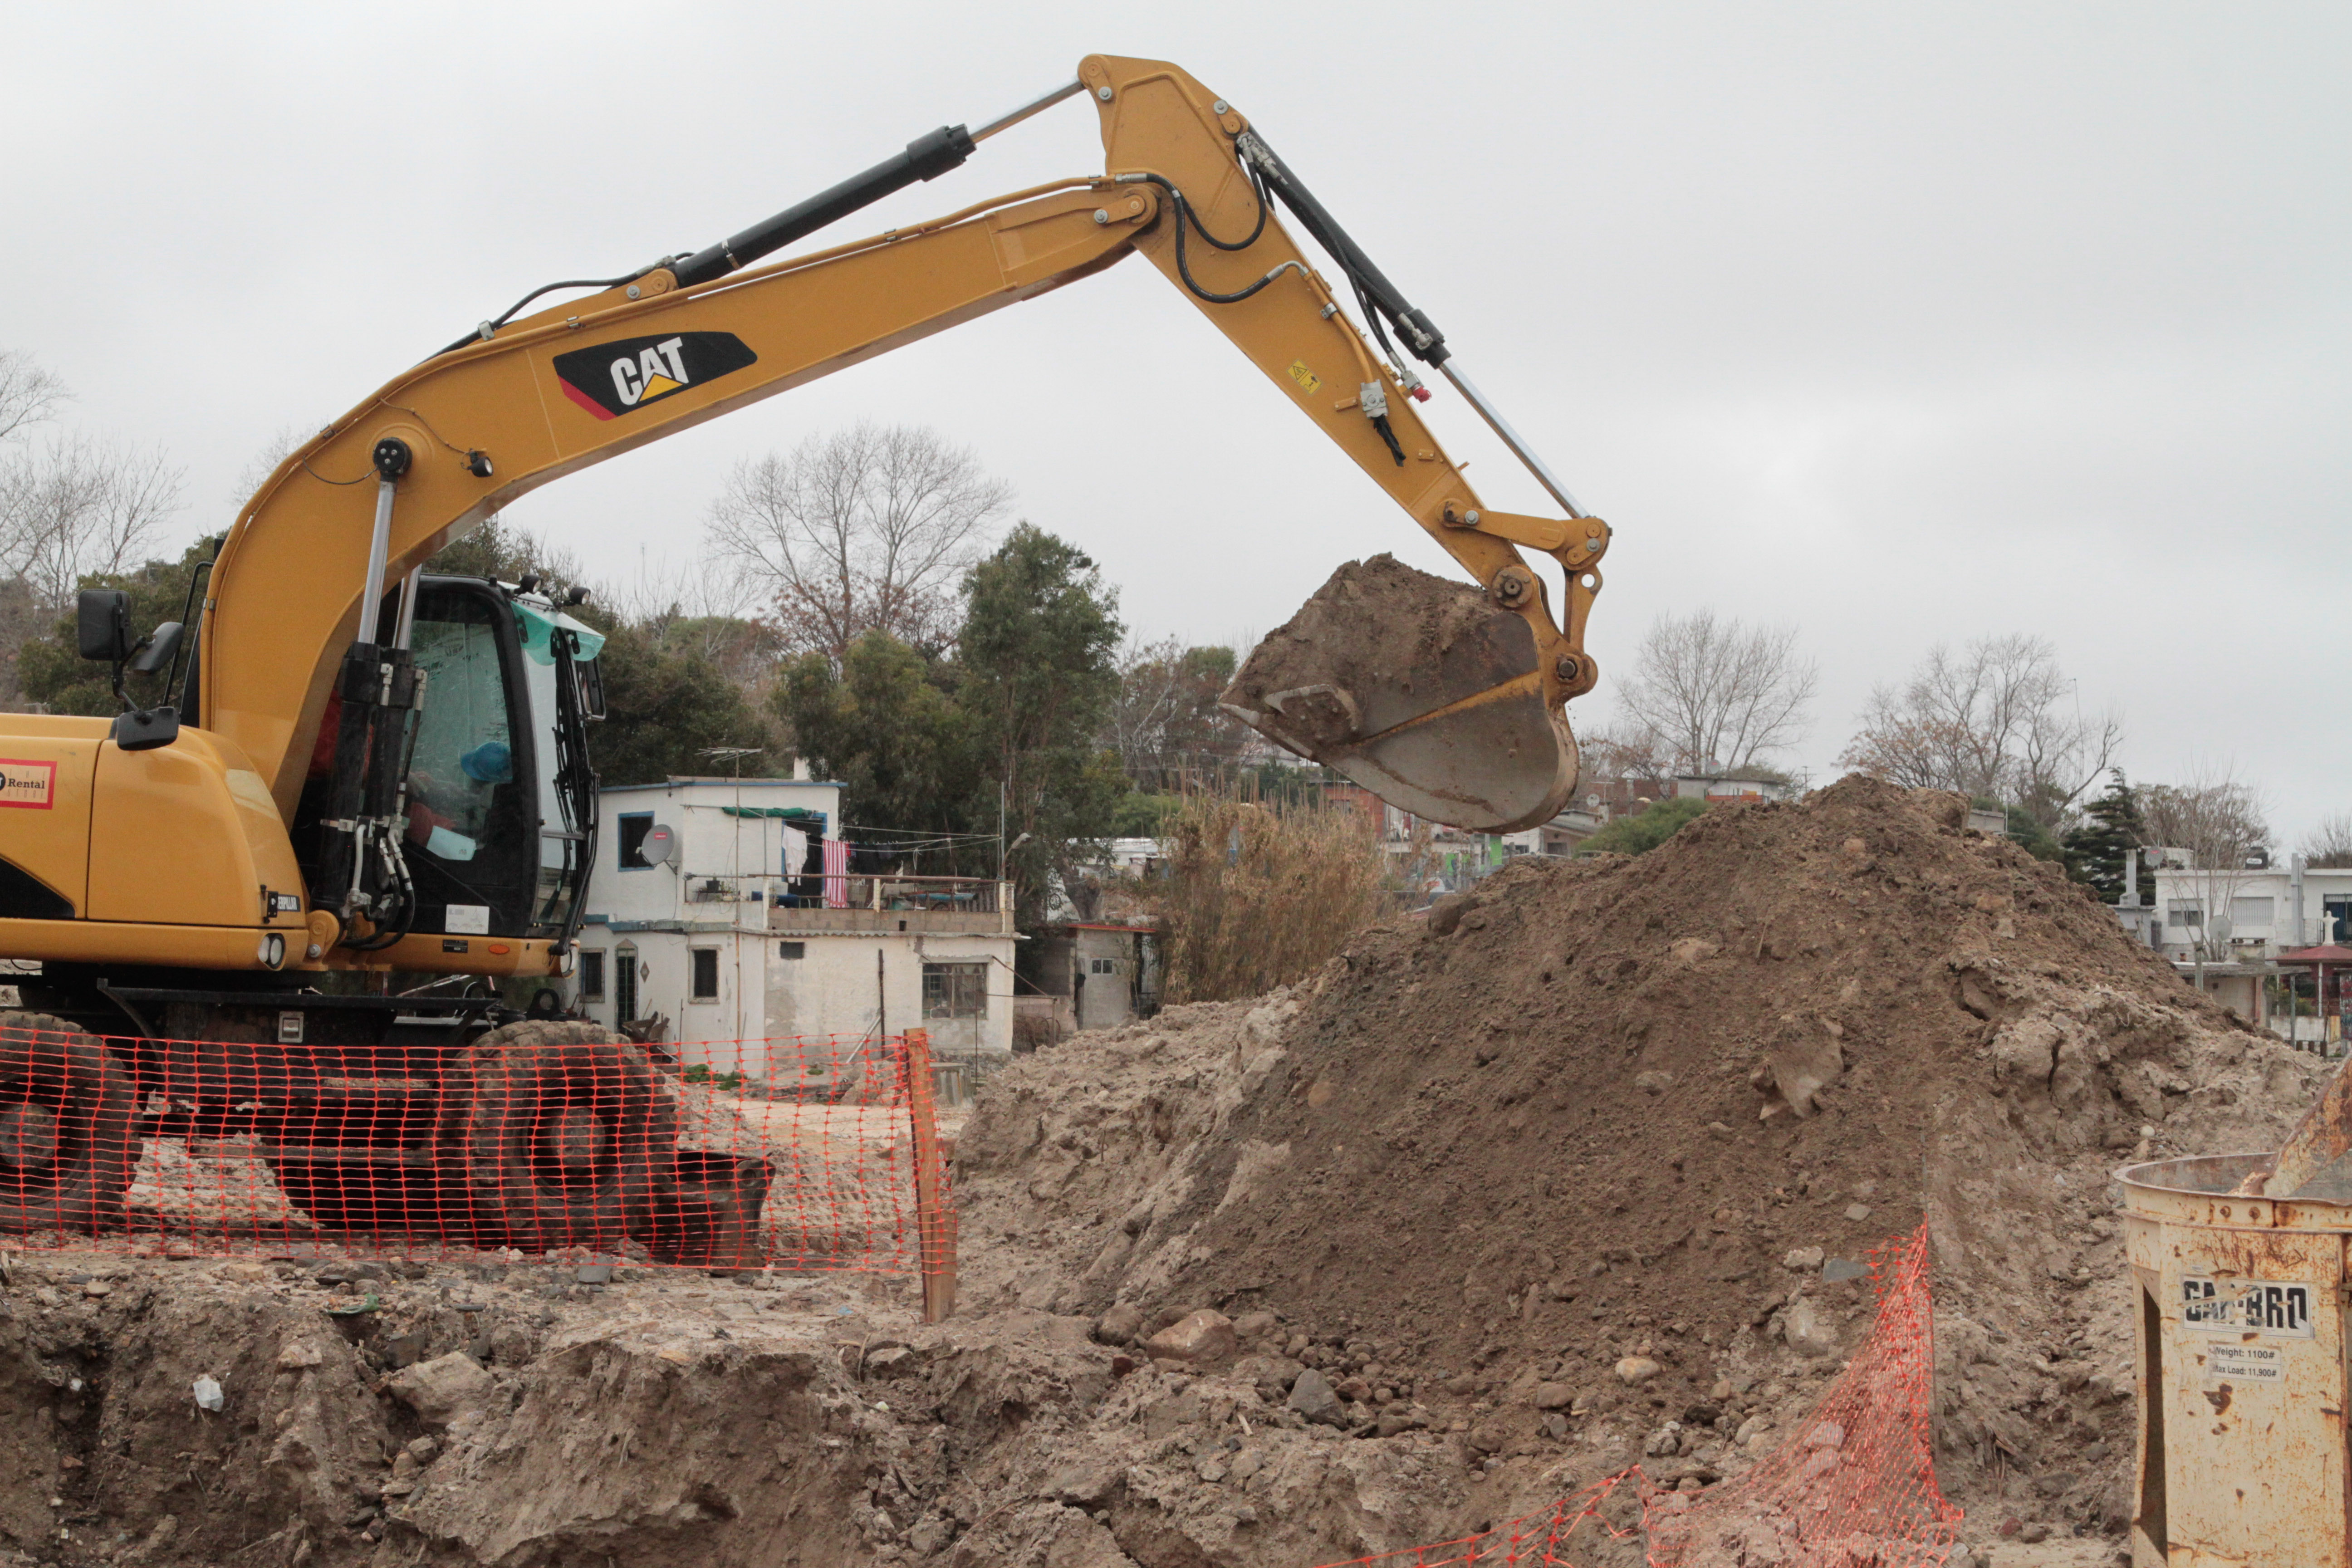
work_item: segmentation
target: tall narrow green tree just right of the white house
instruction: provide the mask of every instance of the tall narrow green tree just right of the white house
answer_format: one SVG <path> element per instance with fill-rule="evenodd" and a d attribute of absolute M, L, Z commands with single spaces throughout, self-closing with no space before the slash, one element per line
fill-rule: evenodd
<path fill-rule="evenodd" d="M 1087 844 L 1110 837 L 1127 776 L 1098 736 L 1120 693 L 1120 595 L 1077 545 L 1028 522 L 964 578 L 957 705 L 983 778 L 1002 788 L 1023 914 L 1042 912 Z"/>

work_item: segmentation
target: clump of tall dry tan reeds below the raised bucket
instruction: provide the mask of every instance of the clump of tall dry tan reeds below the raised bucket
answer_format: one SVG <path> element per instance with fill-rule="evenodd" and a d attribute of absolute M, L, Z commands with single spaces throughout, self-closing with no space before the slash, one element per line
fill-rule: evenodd
<path fill-rule="evenodd" d="M 1152 889 L 1169 1001 L 1230 1001 L 1301 980 L 1376 919 L 1388 858 L 1362 811 L 1188 795 Z"/>

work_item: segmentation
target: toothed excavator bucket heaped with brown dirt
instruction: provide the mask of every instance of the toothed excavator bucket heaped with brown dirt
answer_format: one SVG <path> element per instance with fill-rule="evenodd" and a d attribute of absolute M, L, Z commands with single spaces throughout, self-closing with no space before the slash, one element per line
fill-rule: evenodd
<path fill-rule="evenodd" d="M 1249 651 L 1223 708 L 1470 832 L 1548 823 L 1576 790 L 1576 736 L 1545 701 L 1526 618 L 1392 555 L 1334 571 Z"/>

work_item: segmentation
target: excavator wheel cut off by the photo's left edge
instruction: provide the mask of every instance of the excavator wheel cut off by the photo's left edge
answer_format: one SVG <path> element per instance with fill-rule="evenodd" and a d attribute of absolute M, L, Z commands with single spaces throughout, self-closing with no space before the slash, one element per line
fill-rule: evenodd
<path fill-rule="evenodd" d="M 139 1103 L 106 1044 L 47 1013 L 0 1013 L 0 1232 L 122 1222 Z"/>

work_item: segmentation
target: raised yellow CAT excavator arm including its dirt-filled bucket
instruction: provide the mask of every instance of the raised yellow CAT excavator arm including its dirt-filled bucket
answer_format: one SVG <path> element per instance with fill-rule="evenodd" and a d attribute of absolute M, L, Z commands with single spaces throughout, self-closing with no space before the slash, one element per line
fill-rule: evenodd
<path fill-rule="evenodd" d="M 1077 92 L 1101 113 L 1101 176 L 753 266 Z M 1338 261 L 1341 289 L 1308 263 L 1277 205 Z M 1583 621 L 1606 527 L 1477 397 L 1428 317 L 1404 306 L 1235 108 L 1174 66 L 1115 56 L 1089 56 L 1077 82 L 976 136 L 934 132 L 724 244 L 485 322 L 336 418 L 270 475 L 221 548 L 198 639 L 195 722 L 252 759 L 292 820 L 329 698 L 341 689 L 348 717 L 379 670 L 390 689 L 390 665 L 369 663 L 390 646 L 376 625 L 386 585 L 449 538 L 567 473 L 1129 252 L 1167 273 L 1477 583 L 1451 590 L 1475 602 L 1425 604 L 1414 625 L 1395 616 L 1350 625 L 1350 599 L 1327 588 L 1322 614 L 1310 604 L 1284 628 L 1284 679 L 1251 686 L 1244 665 L 1228 703 L 1423 816 L 1486 830 L 1550 818 L 1576 783 L 1559 708 L 1595 679 Z M 1350 294 L 1378 343 L 1352 324 Z M 1425 388 L 1388 353 L 1390 334 L 1489 418 L 1562 517 L 1479 503 L 1423 423 Z M 1564 616 L 1555 618 L 1522 545 L 1564 569 Z M 1350 637 L 1364 646 L 1322 646 Z M 1294 677 L 1317 658 L 1338 672 Z"/>

